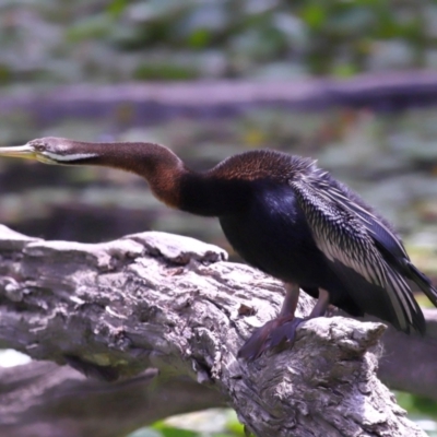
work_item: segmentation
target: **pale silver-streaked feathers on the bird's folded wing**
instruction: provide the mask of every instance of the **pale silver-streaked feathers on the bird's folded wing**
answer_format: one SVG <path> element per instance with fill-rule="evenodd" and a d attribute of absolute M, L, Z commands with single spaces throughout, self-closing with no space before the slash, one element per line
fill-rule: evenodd
<path fill-rule="evenodd" d="M 383 288 L 400 329 L 409 331 L 410 327 L 420 328 L 416 320 L 422 317 L 422 312 L 411 288 L 379 252 L 373 236 L 363 224 L 366 214 L 362 212 L 363 215 L 358 217 L 354 211 L 354 208 L 363 210 L 362 206 L 344 205 L 345 199 L 338 202 L 330 193 L 332 187 L 324 184 L 312 186 L 308 180 L 293 180 L 290 185 L 296 193 L 315 241 L 326 257 L 353 269 L 370 284 Z M 395 238 L 395 241 L 399 240 Z M 400 243 L 397 250 L 404 252 Z"/>

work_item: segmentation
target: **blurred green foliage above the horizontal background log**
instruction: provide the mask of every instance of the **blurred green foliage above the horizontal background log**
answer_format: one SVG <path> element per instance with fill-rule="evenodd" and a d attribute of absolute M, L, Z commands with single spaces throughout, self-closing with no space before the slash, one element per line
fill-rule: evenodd
<path fill-rule="evenodd" d="M 4 1 L 0 16 L 0 84 L 436 67 L 433 0 Z"/>

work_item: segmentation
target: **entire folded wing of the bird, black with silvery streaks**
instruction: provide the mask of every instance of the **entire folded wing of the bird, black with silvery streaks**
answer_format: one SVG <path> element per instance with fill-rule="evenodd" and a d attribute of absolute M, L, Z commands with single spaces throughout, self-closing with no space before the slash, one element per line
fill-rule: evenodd
<path fill-rule="evenodd" d="M 424 332 L 422 310 L 405 280 L 411 277 L 397 265 L 402 259 L 409 260 L 399 238 L 330 184 L 297 180 L 291 186 L 318 248 L 345 283 L 350 297 L 364 312 L 388 320 L 402 331 Z"/>

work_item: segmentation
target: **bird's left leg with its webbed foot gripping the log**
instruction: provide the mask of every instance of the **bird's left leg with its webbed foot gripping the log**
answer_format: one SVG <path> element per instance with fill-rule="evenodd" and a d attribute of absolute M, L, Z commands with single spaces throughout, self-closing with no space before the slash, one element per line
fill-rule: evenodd
<path fill-rule="evenodd" d="M 299 286 L 297 284 L 285 283 L 284 285 L 286 294 L 280 315 L 253 331 L 249 340 L 238 351 L 238 357 L 245 359 L 258 358 L 268 349 L 282 342 L 284 335 L 279 332 L 279 329 L 294 319 L 299 298 Z"/>

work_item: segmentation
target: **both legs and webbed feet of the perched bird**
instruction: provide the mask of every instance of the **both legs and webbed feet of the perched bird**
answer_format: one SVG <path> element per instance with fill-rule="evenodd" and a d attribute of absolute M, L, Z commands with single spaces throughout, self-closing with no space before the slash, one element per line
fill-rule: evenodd
<path fill-rule="evenodd" d="M 310 315 L 305 319 L 294 317 L 299 287 L 296 284 L 285 284 L 286 296 L 281 312 L 276 319 L 268 321 L 258 328 L 250 339 L 239 350 L 238 356 L 246 359 L 256 359 L 269 349 L 276 347 L 286 342 L 293 345 L 296 338 L 296 328 L 305 320 L 323 316 L 329 306 L 329 293 L 319 288 L 319 298 Z"/>

